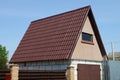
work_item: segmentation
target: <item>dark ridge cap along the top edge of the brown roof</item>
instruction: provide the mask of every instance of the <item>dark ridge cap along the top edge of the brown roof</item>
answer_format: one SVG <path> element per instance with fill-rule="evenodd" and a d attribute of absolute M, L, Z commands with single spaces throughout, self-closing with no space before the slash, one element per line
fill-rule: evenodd
<path fill-rule="evenodd" d="M 91 6 L 88 5 L 88 6 L 85 6 L 85 7 L 78 8 L 78 9 L 66 11 L 66 12 L 59 13 L 59 14 L 55 14 L 55 15 L 52 15 L 52 16 L 48 16 L 48 17 L 45 17 L 45 18 L 41 18 L 41 19 L 38 19 L 38 20 L 34 20 L 34 21 L 32 21 L 31 23 L 38 22 L 38 21 L 41 21 L 41 20 L 44 20 L 44 19 L 48 19 L 48 18 L 51 18 L 51 17 L 55 17 L 55 16 L 58 16 L 58 15 L 63 15 L 63 14 L 66 14 L 66 13 L 74 12 L 74 11 L 77 11 L 77 10 L 80 10 L 80 9 L 84 9 L 84 8 L 89 8 L 89 9 L 90 9 Z"/>

